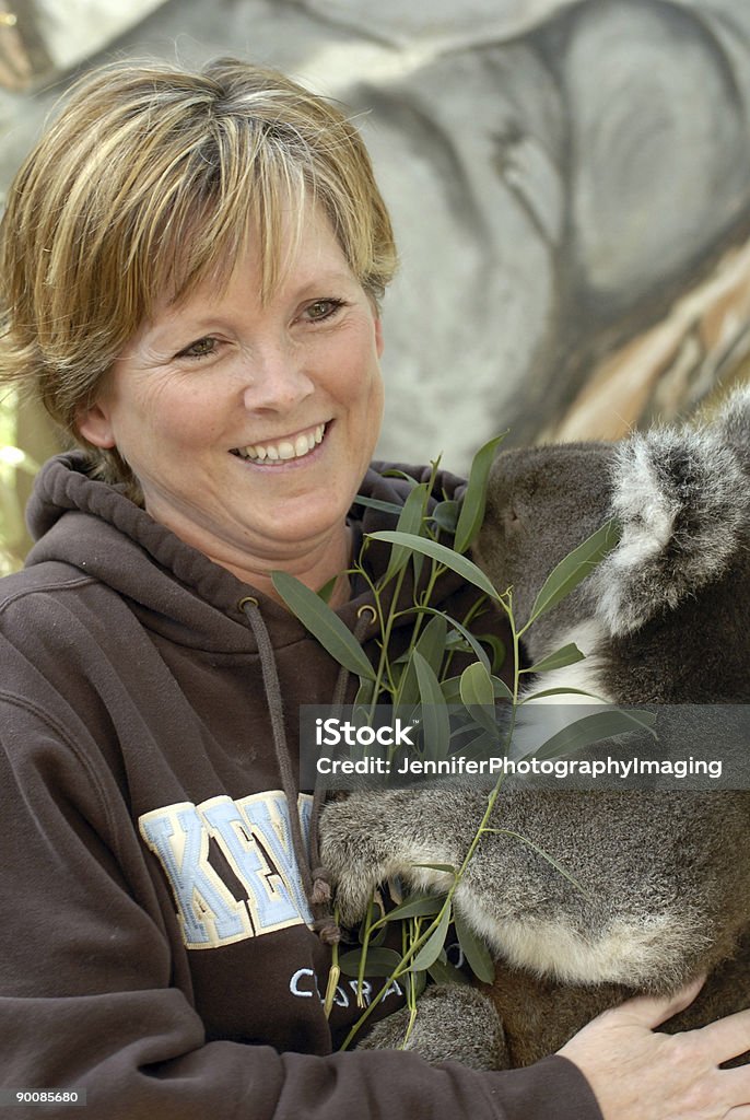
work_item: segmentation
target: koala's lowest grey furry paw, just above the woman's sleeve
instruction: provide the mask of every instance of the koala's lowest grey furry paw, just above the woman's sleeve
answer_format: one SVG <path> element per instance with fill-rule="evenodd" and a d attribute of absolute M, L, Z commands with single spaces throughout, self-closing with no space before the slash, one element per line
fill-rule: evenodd
<path fill-rule="evenodd" d="M 510 1065 L 503 1024 L 493 1002 L 468 984 L 426 988 L 416 1002 L 416 1019 L 406 1043 L 409 1008 L 377 1023 L 359 1049 L 414 1051 L 426 1062 L 449 1060 L 472 1070 L 507 1070 Z"/>

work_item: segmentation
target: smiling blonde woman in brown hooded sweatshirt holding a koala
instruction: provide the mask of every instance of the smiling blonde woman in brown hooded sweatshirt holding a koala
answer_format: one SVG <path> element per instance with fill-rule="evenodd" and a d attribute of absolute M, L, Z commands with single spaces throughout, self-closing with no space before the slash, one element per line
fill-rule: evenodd
<path fill-rule="evenodd" d="M 357 491 L 404 497 L 368 468 L 395 251 L 355 130 L 242 63 L 110 67 L 21 168 L 1 248 L 3 377 L 84 449 L 41 472 L 0 607 L 3 1085 L 79 1088 L 129 1120 L 750 1101 L 750 1075 L 715 1071 L 750 1016 L 651 1035 L 679 1000 L 626 1005 L 513 1073 L 331 1053 L 359 1012 L 345 984 L 330 1021 L 319 998 L 287 738 L 338 671 L 271 572 L 338 577 L 331 601 L 375 643 L 367 589 L 339 573 L 387 523 Z M 437 601 L 470 596 L 451 578 Z"/>

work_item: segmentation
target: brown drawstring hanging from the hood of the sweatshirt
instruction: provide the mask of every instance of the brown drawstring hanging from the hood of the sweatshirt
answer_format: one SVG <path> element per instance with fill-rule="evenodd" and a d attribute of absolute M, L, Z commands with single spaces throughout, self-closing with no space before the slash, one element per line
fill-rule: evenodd
<path fill-rule="evenodd" d="M 294 859 L 297 860 L 297 866 L 299 867 L 300 876 L 302 878 L 302 887 L 312 911 L 312 927 L 318 932 L 321 941 L 326 944 L 334 945 L 340 941 L 341 931 L 330 911 L 330 876 L 320 862 L 318 828 L 320 810 L 326 797 L 326 787 L 324 783 L 316 782 L 312 794 L 308 855 L 304 847 L 304 840 L 302 839 L 300 815 L 297 809 L 298 784 L 294 776 L 292 759 L 289 754 L 283 701 L 281 697 L 281 684 L 279 682 L 279 673 L 276 670 L 276 661 L 273 652 L 273 645 L 271 643 L 271 636 L 265 622 L 263 620 L 257 599 L 252 596 L 246 596 L 244 599 L 240 600 L 237 606 L 247 618 L 257 643 L 257 652 L 261 660 L 261 672 L 263 674 L 263 688 L 265 690 L 269 715 L 271 717 L 273 745 L 279 763 L 281 785 L 289 806 L 289 825 L 291 829 L 292 849 L 294 851 Z M 362 641 L 367 625 L 368 618 L 360 612 L 354 632 L 354 636 L 357 641 Z M 348 670 L 341 666 L 336 681 L 336 688 L 334 690 L 334 708 L 337 711 L 340 710 L 344 704 L 348 676 Z"/>

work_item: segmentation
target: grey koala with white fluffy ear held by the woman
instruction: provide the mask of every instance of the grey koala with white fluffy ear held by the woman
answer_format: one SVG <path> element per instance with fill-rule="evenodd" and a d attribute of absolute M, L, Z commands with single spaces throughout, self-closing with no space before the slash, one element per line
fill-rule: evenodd
<path fill-rule="evenodd" d="M 703 426 L 500 455 L 475 559 L 498 590 L 513 587 L 523 622 L 554 566 L 612 516 L 615 549 L 527 632 L 529 664 L 569 642 L 585 659 L 542 674 L 533 691 L 750 703 L 750 391 Z M 486 806 L 486 791 L 450 782 L 328 804 L 321 852 L 344 921 L 393 876 L 444 890 L 446 872 L 415 865 L 460 866 Z M 489 823 L 507 832 L 482 837 L 454 905 L 496 961 L 484 988 L 493 1014 L 478 1014 L 474 989 L 428 988 L 410 1048 L 484 1068 L 527 1065 L 628 996 L 668 993 L 702 973 L 700 996 L 667 1029 L 750 1005 L 750 793 L 516 785 L 500 790 Z M 397 1012 L 378 1024 L 365 1045 L 400 1045 L 403 1021 Z"/>

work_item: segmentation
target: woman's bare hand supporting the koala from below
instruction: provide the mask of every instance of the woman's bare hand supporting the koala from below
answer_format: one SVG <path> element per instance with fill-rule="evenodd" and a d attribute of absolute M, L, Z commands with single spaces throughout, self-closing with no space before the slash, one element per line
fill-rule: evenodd
<path fill-rule="evenodd" d="M 655 1034 L 701 990 L 639 997 L 604 1011 L 560 1053 L 593 1089 L 604 1120 L 750 1120 L 750 1065 L 719 1070 L 750 1049 L 750 1010 L 700 1030 Z"/>

